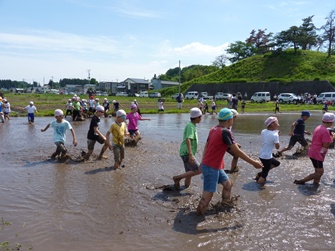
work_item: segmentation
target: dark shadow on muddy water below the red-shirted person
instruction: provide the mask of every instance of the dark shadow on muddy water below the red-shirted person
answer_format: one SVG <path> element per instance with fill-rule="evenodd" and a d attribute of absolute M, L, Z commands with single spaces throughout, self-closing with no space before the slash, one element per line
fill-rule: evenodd
<path fill-rule="evenodd" d="M 172 229 L 185 234 L 198 235 L 202 233 L 226 232 L 243 227 L 241 224 L 237 223 L 234 226 L 203 228 L 202 226 L 199 226 L 202 222 L 205 223 L 205 217 L 197 215 L 194 211 L 190 211 L 189 208 L 182 208 L 174 219 Z"/>

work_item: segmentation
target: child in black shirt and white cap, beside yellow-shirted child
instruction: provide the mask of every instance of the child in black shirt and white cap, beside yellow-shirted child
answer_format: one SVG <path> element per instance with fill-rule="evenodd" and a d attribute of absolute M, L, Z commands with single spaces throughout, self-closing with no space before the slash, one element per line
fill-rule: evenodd
<path fill-rule="evenodd" d="M 106 141 L 105 136 L 99 131 L 100 118 L 102 117 L 102 115 L 104 115 L 105 109 L 103 108 L 103 106 L 99 105 L 95 108 L 95 110 L 96 110 L 96 112 L 91 119 L 90 128 L 87 132 L 87 148 L 88 148 L 88 151 L 87 151 L 87 153 L 82 151 L 82 157 L 85 160 L 88 160 L 90 158 L 90 156 L 92 155 L 93 150 L 94 150 L 94 145 L 97 141 L 100 144 L 104 144 L 105 141 Z M 104 152 L 103 149 L 104 148 L 101 149 L 101 152 L 100 152 L 97 159 L 107 158 L 103 155 L 103 152 Z"/>

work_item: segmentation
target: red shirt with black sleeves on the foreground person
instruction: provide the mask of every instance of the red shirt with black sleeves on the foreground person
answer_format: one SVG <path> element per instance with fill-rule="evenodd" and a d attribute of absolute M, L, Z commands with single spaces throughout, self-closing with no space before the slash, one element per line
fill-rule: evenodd
<path fill-rule="evenodd" d="M 207 138 L 207 148 L 202 162 L 214 169 L 223 169 L 223 157 L 228 147 L 234 144 L 234 136 L 231 131 L 221 126 L 214 126 Z"/>

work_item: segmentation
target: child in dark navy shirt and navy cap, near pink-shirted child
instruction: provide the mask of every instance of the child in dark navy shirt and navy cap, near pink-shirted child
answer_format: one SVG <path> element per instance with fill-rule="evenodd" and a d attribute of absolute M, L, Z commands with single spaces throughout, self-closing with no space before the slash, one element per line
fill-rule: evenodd
<path fill-rule="evenodd" d="M 284 147 L 282 150 L 274 154 L 273 157 L 278 158 L 282 156 L 283 152 L 291 150 L 297 142 L 299 142 L 305 149 L 307 148 L 308 143 L 305 139 L 305 134 L 311 135 L 311 133 L 305 131 L 305 121 L 309 119 L 310 116 L 311 114 L 309 113 L 309 111 L 301 112 L 301 117 L 291 125 L 291 131 L 289 134 L 291 136 L 291 139 L 288 147 Z"/>

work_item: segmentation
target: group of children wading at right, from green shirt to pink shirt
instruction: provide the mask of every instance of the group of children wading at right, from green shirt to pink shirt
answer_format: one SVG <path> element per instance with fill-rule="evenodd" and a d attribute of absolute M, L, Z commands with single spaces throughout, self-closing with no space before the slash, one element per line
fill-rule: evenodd
<path fill-rule="evenodd" d="M 235 116 L 234 116 L 235 113 Z M 199 108 L 190 110 L 190 122 L 186 124 L 183 134 L 183 141 L 180 145 L 179 155 L 184 163 L 185 173 L 173 176 L 174 186 L 179 189 L 180 182 L 185 179 L 185 188 L 191 184 L 191 178 L 195 175 L 203 175 L 203 193 L 197 207 L 197 213 L 204 215 L 209 207 L 213 194 L 216 192 L 217 184 L 222 185 L 222 205 L 231 204 L 231 190 L 233 183 L 227 173 L 234 172 L 237 166 L 238 158 L 242 158 L 257 169 L 261 169 L 254 178 L 257 183 L 264 185 L 269 171 L 280 165 L 276 159 L 282 156 L 284 151 L 292 149 L 299 142 L 305 149 L 308 143 L 304 137 L 305 121 L 311 116 L 308 111 L 303 111 L 301 117 L 292 123 L 290 131 L 290 142 L 288 147 L 281 150 L 279 142 L 279 121 L 276 117 L 268 117 L 265 121 L 265 129 L 261 132 L 262 146 L 259 153 L 259 160 L 250 158 L 240 149 L 240 145 L 235 142 L 231 127 L 236 119 L 236 110 L 223 108 L 217 115 L 218 125 L 210 129 L 207 141 L 204 147 L 201 162 L 196 158 L 198 148 L 198 134 L 196 125 L 201 122 L 202 112 Z M 333 113 L 325 113 L 322 117 L 321 125 L 317 126 L 313 133 L 312 143 L 308 150 L 308 156 L 312 161 L 314 173 L 309 174 L 303 179 L 294 180 L 297 185 L 303 185 L 313 180 L 314 185 L 318 185 L 324 173 L 323 162 L 329 145 L 335 139 L 335 135 L 330 133 L 330 128 L 335 121 Z M 273 153 L 273 149 L 277 153 Z M 233 156 L 232 167 L 230 170 L 224 170 L 224 156 L 228 152 Z M 234 163 L 234 164 L 233 164 Z M 229 172 L 228 172 L 229 171 Z M 237 169 L 238 171 L 238 169 Z"/>

